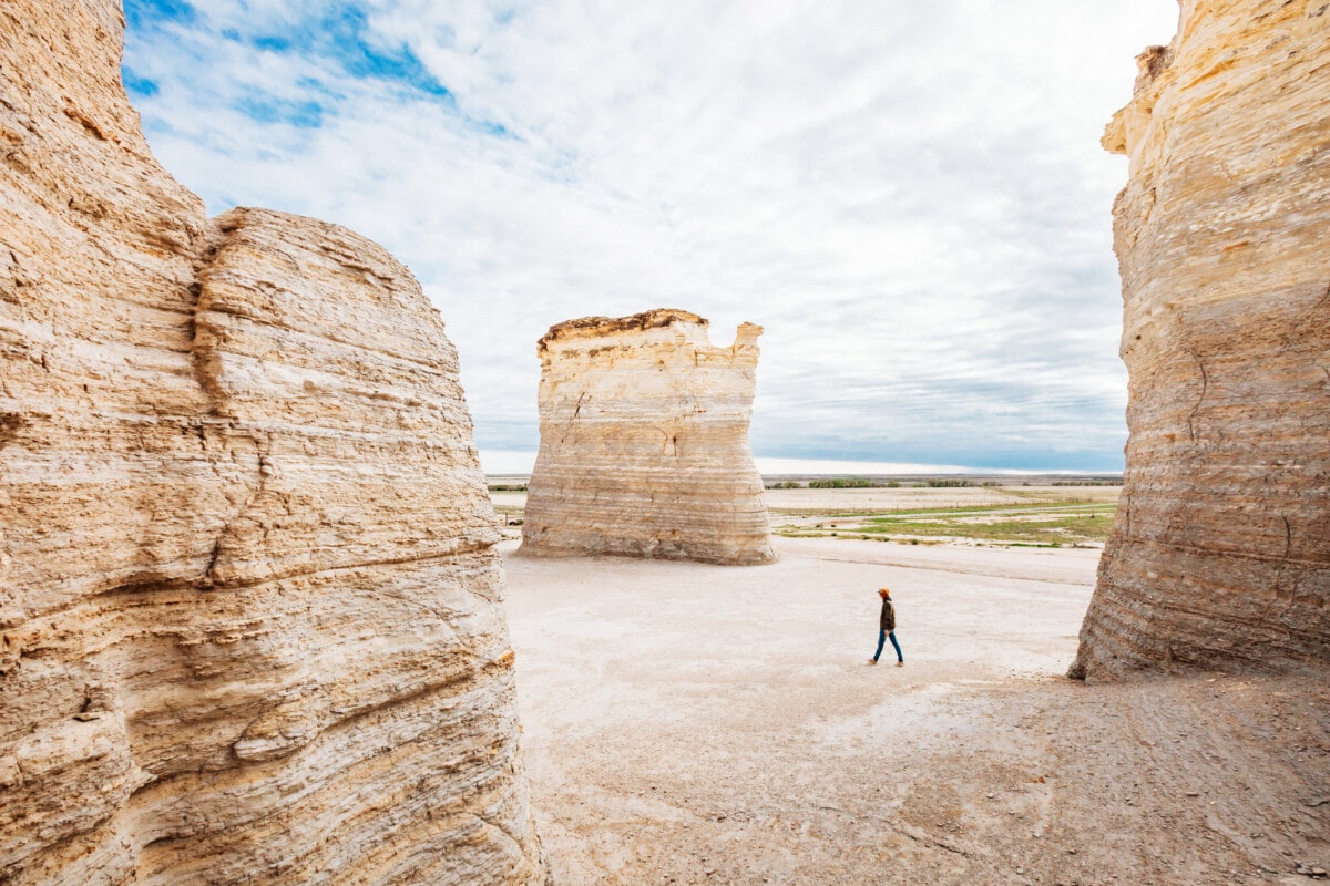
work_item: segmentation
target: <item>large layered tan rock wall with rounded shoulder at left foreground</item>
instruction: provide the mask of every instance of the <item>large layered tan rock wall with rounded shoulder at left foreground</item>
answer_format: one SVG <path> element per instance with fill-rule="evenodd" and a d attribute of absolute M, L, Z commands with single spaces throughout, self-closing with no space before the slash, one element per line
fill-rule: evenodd
<path fill-rule="evenodd" d="M 543 882 L 443 323 L 350 231 L 209 221 L 122 29 L 0 9 L 0 882 Z"/>

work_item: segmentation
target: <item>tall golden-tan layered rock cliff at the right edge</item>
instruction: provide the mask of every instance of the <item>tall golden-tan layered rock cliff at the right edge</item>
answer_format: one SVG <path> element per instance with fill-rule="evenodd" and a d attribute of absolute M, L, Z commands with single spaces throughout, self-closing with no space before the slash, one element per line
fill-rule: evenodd
<path fill-rule="evenodd" d="M 1105 133 L 1130 440 L 1073 675 L 1330 663 L 1327 36 L 1184 0 Z"/>

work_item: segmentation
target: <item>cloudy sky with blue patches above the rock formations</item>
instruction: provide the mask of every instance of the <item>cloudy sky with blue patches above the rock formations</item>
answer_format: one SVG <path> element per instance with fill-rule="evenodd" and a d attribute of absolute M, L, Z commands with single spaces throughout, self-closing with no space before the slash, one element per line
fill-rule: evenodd
<path fill-rule="evenodd" d="M 124 4 L 161 162 L 402 259 L 483 453 L 548 327 L 674 307 L 765 327 L 759 457 L 1123 468 L 1099 138 L 1173 0 Z"/>

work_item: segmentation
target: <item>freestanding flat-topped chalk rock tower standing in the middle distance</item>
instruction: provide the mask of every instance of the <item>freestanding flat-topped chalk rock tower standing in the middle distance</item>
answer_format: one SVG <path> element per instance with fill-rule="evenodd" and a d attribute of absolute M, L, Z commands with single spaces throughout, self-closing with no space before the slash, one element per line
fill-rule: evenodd
<path fill-rule="evenodd" d="M 717 348 L 706 325 L 658 310 L 545 333 L 523 554 L 775 559 L 747 444 L 762 328 Z"/>

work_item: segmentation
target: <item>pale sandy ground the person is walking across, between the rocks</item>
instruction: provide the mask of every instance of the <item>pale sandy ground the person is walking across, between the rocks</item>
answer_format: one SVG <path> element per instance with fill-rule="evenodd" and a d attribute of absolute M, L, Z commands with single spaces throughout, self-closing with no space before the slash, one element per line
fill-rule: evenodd
<path fill-rule="evenodd" d="M 560 886 L 1311 883 L 1314 677 L 1063 677 L 1099 551 L 778 539 L 761 567 L 508 557 Z M 906 665 L 866 665 L 879 584 Z"/>

